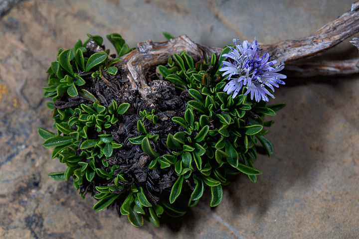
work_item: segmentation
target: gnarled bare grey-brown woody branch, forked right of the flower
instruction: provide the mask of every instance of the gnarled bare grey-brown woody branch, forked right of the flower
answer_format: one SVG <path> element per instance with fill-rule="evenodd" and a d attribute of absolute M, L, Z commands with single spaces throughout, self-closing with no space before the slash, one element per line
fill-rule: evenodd
<path fill-rule="evenodd" d="M 328 50 L 357 32 L 359 32 L 359 1 L 353 3 L 351 10 L 305 38 L 280 41 L 264 45 L 262 48 L 263 51 L 272 55 L 272 59 L 289 63 Z M 353 44 L 359 44 L 359 41 Z M 138 90 L 145 99 L 146 95 L 151 92 L 146 72 L 152 67 L 166 64 L 169 57 L 183 50 L 197 60 L 204 58 L 206 54 L 210 56 L 214 53 L 219 56 L 222 51 L 221 48 L 196 44 L 185 35 L 160 43 L 148 40 L 145 43 L 139 43 L 137 49 L 123 56 L 118 67 L 125 72 L 132 88 Z M 292 75 L 299 77 L 345 75 L 358 73 L 358 65 L 359 59 L 323 61 L 287 65 L 286 70 L 292 71 L 294 73 Z"/>

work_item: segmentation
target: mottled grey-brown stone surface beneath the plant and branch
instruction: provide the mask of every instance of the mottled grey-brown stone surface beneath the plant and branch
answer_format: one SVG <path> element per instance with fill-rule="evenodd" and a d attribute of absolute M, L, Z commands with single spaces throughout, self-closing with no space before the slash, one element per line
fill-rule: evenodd
<path fill-rule="evenodd" d="M 9 4 L 7 4 L 10 2 Z M 222 203 L 209 196 L 187 215 L 160 228 L 133 228 L 125 217 L 94 212 L 69 182 L 47 174 L 64 170 L 42 147 L 37 127 L 51 129 L 42 98 L 45 70 L 58 48 L 86 33 L 118 32 L 130 47 L 163 31 L 222 47 L 232 38 L 265 44 L 305 37 L 351 8 L 350 0 L 25 0 L 1 1 L 0 238 L 359 238 L 359 77 L 287 79 L 271 103 L 272 157 L 260 156 L 257 183 L 238 176 Z M 1 5 L 0 5 L 1 6 Z M 109 46 L 109 42 L 105 40 Z M 113 49 L 113 48 L 111 48 Z M 321 59 L 345 59 L 349 40 Z M 314 58 L 316 59 L 316 58 Z"/>

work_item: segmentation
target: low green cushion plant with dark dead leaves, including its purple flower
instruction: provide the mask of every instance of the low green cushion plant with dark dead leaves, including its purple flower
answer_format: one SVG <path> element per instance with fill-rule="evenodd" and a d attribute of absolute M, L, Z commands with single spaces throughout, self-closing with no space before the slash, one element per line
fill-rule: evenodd
<path fill-rule="evenodd" d="M 147 69 L 144 94 L 122 64 L 135 51 L 146 54 L 144 45 L 129 48 L 119 34 L 107 38 L 117 55 L 89 35 L 60 49 L 47 70 L 44 97 L 52 98 L 55 132 L 38 132 L 52 158 L 67 166 L 52 179 L 72 177 L 81 197 L 90 192 L 98 200 L 94 210 L 116 206 L 135 227 L 144 220 L 158 227 L 163 213 L 182 216 L 181 202 L 196 205 L 204 190 L 217 206 L 229 175 L 256 182 L 257 148 L 273 153 L 263 128 L 273 120 L 263 117 L 284 107 L 267 105 L 273 86 L 284 84 L 283 64 L 273 67 L 257 41 L 234 40 L 220 54 L 179 50 Z"/>

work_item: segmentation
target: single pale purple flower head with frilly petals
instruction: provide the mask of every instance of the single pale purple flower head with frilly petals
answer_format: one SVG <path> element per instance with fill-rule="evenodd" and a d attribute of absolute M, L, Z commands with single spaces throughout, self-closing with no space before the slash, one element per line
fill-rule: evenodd
<path fill-rule="evenodd" d="M 233 93 L 232 98 L 235 98 L 243 86 L 246 86 L 247 91 L 244 95 L 250 93 L 251 100 L 253 98 L 256 102 L 268 101 L 268 96 L 274 98 L 273 94 L 267 88 L 274 92 L 278 84 L 285 85 L 281 79 L 286 79 L 287 76 L 277 73 L 283 70 L 284 63 L 273 67 L 277 63 L 276 60 L 270 61 L 270 56 L 267 52 L 259 56 L 259 45 L 256 40 L 249 43 L 243 41 L 242 44 L 237 45 L 236 39 L 233 39 L 236 49 L 228 46 L 232 51 L 223 54 L 226 61 L 223 61 L 223 66 L 219 71 L 223 71 L 222 76 L 226 76 L 229 81 L 223 91 L 229 95 Z"/>

